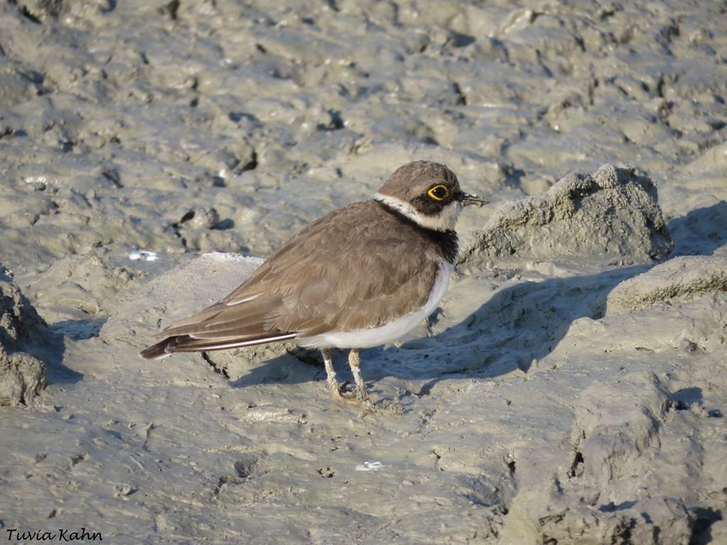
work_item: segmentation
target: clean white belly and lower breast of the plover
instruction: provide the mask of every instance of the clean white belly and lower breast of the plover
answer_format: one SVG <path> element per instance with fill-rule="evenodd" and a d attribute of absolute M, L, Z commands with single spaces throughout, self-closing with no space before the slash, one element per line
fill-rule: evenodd
<path fill-rule="evenodd" d="M 409 333 L 422 320 L 434 312 L 442 300 L 444 292 L 447 291 L 449 277 L 453 268 L 454 265 L 450 263 L 441 263 L 437 279 L 429 294 L 429 299 L 427 299 L 427 304 L 422 307 L 422 310 L 417 310 L 416 312 L 411 312 L 406 316 L 397 318 L 385 326 L 302 337 L 295 339 L 295 342 L 307 348 L 370 348 L 395 341 Z"/>

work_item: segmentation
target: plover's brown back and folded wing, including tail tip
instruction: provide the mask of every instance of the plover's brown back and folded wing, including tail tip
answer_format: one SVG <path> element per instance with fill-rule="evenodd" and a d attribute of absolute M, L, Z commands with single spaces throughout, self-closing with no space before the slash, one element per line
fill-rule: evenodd
<path fill-rule="evenodd" d="M 375 201 L 356 203 L 310 224 L 225 299 L 161 331 L 163 340 L 141 354 L 381 326 L 425 304 L 439 262 L 427 238 L 401 218 Z"/>

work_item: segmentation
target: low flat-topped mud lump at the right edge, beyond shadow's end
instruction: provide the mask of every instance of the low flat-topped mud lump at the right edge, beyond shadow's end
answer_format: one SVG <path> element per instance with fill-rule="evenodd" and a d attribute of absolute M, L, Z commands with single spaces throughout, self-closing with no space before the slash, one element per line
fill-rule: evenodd
<path fill-rule="evenodd" d="M 727 257 L 675 257 L 616 286 L 606 299 L 606 315 L 720 291 L 727 291 Z"/>

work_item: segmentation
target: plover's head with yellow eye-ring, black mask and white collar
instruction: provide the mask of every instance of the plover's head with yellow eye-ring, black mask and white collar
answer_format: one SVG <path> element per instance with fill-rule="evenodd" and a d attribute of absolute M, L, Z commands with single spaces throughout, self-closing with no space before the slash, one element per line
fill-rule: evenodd
<path fill-rule="evenodd" d="M 432 161 L 400 166 L 375 198 L 417 225 L 438 231 L 454 230 L 463 206 L 487 203 L 462 191 L 454 172 Z"/>

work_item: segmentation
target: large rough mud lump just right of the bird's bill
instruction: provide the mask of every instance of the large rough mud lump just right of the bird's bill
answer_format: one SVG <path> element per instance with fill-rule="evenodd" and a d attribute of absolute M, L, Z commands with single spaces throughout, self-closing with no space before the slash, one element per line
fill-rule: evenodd
<path fill-rule="evenodd" d="M 465 265 L 601 265 L 663 259 L 674 241 L 654 180 L 630 166 L 574 173 L 545 193 L 502 206 L 463 254 Z"/>

